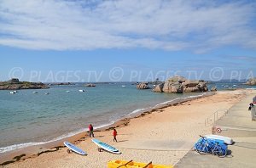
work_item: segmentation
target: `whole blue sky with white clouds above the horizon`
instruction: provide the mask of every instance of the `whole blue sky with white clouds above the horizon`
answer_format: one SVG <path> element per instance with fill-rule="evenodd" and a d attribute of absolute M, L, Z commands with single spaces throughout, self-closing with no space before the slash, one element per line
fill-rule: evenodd
<path fill-rule="evenodd" d="M 1 0 L 0 81 L 256 76 L 253 0 Z"/>

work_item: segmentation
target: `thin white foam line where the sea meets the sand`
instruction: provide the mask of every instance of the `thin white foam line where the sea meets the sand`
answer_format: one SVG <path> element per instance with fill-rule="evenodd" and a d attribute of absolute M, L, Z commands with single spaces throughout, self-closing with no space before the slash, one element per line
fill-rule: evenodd
<path fill-rule="evenodd" d="M 190 100 L 191 98 L 200 98 L 202 96 L 206 95 L 206 93 L 203 93 L 203 94 L 200 94 L 200 95 L 195 95 L 195 96 L 189 96 L 189 97 L 186 97 L 186 98 L 174 98 L 172 100 L 169 100 L 169 101 L 166 101 L 166 102 L 163 102 L 163 103 L 160 103 L 160 104 L 156 104 L 154 105 L 154 107 L 148 107 L 147 109 L 136 109 L 136 110 L 133 110 L 131 113 L 129 113 L 128 115 L 125 115 L 125 116 L 129 116 L 129 115 L 135 115 L 135 114 L 139 114 L 139 113 L 143 113 L 143 111 L 147 111 L 149 109 L 155 109 L 161 105 L 167 105 L 167 104 L 171 104 L 171 103 L 174 103 L 174 102 L 183 102 L 185 100 Z M 103 124 L 103 125 L 100 125 L 100 126 L 95 126 L 95 129 L 100 129 L 102 127 L 107 127 L 107 126 L 111 126 L 113 125 L 116 121 L 118 121 L 120 119 L 116 119 L 116 120 L 111 120 L 109 123 L 107 124 Z M 88 129 L 80 129 L 79 131 L 76 131 L 76 132 L 69 132 L 67 134 L 64 134 L 64 135 L 61 135 L 60 137 L 55 137 L 54 139 L 50 140 L 50 141 L 47 141 L 47 142 L 38 142 L 38 143 L 20 143 L 20 144 L 14 144 L 14 145 L 10 145 L 10 146 L 7 146 L 7 147 L 1 147 L 0 148 L 0 154 L 1 153 L 6 153 L 6 152 L 9 152 L 9 151 L 12 151 L 12 150 L 15 150 L 15 149 L 19 149 L 19 148 L 26 148 L 26 147 L 30 147 L 30 146 L 35 146 L 35 145 L 42 145 L 42 144 L 45 144 L 45 143 L 53 143 L 55 141 L 59 141 L 63 138 L 67 138 L 67 137 L 72 137 L 74 135 L 77 135 L 81 132 L 86 132 L 88 131 Z"/>

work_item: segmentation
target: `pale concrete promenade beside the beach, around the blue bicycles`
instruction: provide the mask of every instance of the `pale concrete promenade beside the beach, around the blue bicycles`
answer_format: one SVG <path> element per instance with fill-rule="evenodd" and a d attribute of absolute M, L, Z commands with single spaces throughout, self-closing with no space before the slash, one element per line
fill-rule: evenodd
<path fill-rule="evenodd" d="M 213 133 L 232 137 L 235 142 L 228 146 L 229 155 L 218 158 L 211 154 L 200 155 L 191 149 L 175 167 L 256 167 L 256 121 L 252 120 L 251 111 L 248 111 L 255 95 L 254 92 L 242 99 L 214 124 L 222 131 Z"/>

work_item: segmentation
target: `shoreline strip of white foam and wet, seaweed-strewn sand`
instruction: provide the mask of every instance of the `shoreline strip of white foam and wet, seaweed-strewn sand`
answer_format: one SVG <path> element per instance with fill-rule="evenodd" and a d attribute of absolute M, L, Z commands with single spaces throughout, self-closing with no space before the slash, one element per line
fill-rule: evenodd
<path fill-rule="evenodd" d="M 149 115 L 155 112 L 156 110 L 164 109 L 172 105 L 178 105 L 178 104 L 182 104 L 184 102 L 188 102 L 198 98 L 205 98 L 207 96 L 212 96 L 213 94 L 214 92 L 203 92 L 200 95 L 189 96 L 186 98 L 175 98 L 175 99 L 163 102 L 161 104 L 156 104 L 153 108 L 143 109 L 138 111 L 137 113 L 131 113 L 131 114 L 125 115 L 125 117 L 122 117 L 121 119 L 115 121 L 113 124 L 96 128 L 95 132 L 108 132 L 113 128 L 118 128 L 120 126 L 127 126 L 130 120 L 134 118 L 142 117 L 144 115 Z M 20 158 L 22 159 L 30 158 L 35 154 L 40 155 L 48 152 L 54 152 L 59 148 L 65 147 L 63 145 L 63 142 L 68 141 L 70 143 L 77 143 L 82 141 L 85 137 L 88 137 L 88 135 L 89 135 L 88 131 L 79 132 L 73 136 L 63 137 L 52 142 L 45 142 L 45 143 L 43 142 L 43 144 L 35 144 L 35 145 L 27 146 L 24 148 L 17 148 L 5 153 L 1 153 L 2 156 L 0 158 L 0 165 L 7 165 L 9 163 L 14 163 L 15 161 L 17 161 L 16 159 L 14 160 L 15 157 L 20 160 Z"/>

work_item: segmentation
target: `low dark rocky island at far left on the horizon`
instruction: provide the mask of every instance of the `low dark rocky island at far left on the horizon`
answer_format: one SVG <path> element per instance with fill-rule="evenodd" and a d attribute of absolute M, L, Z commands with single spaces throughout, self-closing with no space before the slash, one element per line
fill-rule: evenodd
<path fill-rule="evenodd" d="M 19 89 L 45 89 L 49 88 L 42 82 L 19 81 L 12 78 L 9 81 L 0 81 L 0 90 L 19 90 Z"/>

